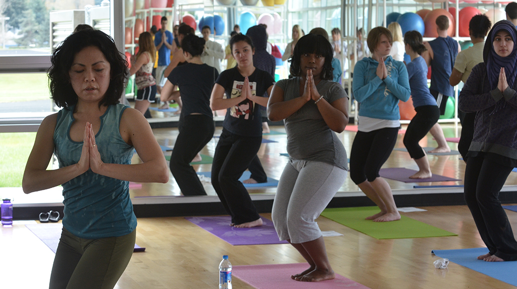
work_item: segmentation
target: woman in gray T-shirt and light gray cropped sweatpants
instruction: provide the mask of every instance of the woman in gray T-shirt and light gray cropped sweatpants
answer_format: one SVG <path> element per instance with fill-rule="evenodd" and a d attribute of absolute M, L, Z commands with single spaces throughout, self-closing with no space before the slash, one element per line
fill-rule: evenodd
<path fill-rule="evenodd" d="M 310 267 L 291 278 L 334 278 L 325 242 L 314 220 L 343 185 L 346 151 L 337 138 L 348 123 L 347 95 L 332 82 L 332 47 L 321 35 L 298 40 L 291 58 L 292 79 L 273 86 L 269 119 L 284 119 L 290 161 L 280 177 L 272 219 L 281 240 L 290 242 Z M 315 257 L 314 257 L 315 256 Z"/>

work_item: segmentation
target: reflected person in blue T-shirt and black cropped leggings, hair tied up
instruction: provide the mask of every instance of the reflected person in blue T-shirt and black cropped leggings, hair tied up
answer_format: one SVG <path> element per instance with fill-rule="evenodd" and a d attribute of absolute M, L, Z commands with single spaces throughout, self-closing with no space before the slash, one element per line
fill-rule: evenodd
<path fill-rule="evenodd" d="M 409 87 L 411 87 L 411 97 L 413 98 L 413 107 L 415 107 L 417 112 L 404 134 L 404 145 L 409 155 L 418 165 L 418 172 L 409 178 L 430 178 L 433 174 L 431 173 L 429 160 L 418 142 L 436 124 L 440 118 L 440 109 L 427 87 L 428 68 L 425 60 L 420 56 L 427 50 L 422 43 L 422 35 L 418 31 L 406 32 L 404 35 L 404 45 L 407 55 L 411 57 L 411 62 L 407 64 L 406 68 L 409 77 Z"/>

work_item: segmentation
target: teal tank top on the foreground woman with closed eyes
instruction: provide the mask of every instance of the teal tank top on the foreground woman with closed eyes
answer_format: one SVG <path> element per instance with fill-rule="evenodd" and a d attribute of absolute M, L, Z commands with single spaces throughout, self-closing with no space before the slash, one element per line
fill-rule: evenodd
<path fill-rule="evenodd" d="M 104 163 L 130 164 L 133 147 L 120 135 L 120 118 L 127 105 L 110 105 L 100 117 L 95 142 Z M 75 164 L 81 158 L 83 142 L 70 138 L 74 107 L 57 113 L 54 154 L 59 167 Z M 65 204 L 63 227 L 83 239 L 127 235 L 136 228 L 136 216 L 129 197 L 129 181 L 102 176 L 89 169 L 63 184 Z"/>

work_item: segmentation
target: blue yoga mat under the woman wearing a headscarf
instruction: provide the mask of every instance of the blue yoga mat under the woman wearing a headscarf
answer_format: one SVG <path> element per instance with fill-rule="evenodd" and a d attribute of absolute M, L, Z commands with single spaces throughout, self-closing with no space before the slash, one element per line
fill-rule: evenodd
<path fill-rule="evenodd" d="M 517 261 L 513 262 L 485 262 L 477 260 L 477 257 L 488 253 L 486 248 L 458 249 L 458 250 L 433 250 L 440 258 L 448 258 L 450 262 L 473 269 L 484 275 L 501 280 L 513 286 L 517 286 Z"/>

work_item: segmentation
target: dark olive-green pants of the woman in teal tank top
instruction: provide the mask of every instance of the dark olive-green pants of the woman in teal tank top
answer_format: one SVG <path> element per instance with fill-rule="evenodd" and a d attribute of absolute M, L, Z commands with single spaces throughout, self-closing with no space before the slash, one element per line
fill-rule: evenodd
<path fill-rule="evenodd" d="M 63 228 L 50 289 L 113 288 L 133 254 L 136 230 L 102 239 L 82 239 Z"/>

